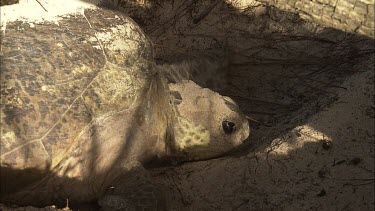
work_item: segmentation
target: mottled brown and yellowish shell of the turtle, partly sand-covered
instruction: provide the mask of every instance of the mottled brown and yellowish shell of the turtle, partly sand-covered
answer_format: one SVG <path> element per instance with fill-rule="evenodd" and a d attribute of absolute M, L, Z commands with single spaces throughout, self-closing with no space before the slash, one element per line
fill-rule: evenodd
<path fill-rule="evenodd" d="M 134 106 L 149 85 L 152 51 L 142 30 L 111 11 L 85 15 L 34 28 L 8 23 L 2 166 L 53 168 L 95 118 Z"/>

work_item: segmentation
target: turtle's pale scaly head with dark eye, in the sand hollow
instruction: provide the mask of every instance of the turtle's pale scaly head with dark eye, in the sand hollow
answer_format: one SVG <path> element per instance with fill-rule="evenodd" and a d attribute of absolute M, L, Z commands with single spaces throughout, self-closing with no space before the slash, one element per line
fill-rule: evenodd
<path fill-rule="evenodd" d="M 192 81 L 169 84 L 174 112 L 173 146 L 189 160 L 219 156 L 242 144 L 250 129 L 229 97 Z"/>

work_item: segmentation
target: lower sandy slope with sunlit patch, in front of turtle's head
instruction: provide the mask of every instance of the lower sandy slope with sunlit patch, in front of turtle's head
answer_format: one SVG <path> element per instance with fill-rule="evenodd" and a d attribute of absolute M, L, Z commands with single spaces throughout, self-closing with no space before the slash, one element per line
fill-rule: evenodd
<path fill-rule="evenodd" d="M 334 103 L 264 148 L 155 170 L 172 210 L 373 210 L 374 70 L 366 63 Z"/>

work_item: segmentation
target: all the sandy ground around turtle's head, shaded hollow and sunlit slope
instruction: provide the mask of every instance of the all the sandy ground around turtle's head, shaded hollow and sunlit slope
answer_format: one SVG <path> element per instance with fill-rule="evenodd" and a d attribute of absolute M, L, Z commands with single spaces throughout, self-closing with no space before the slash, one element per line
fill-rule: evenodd
<path fill-rule="evenodd" d="M 120 7 L 158 63 L 216 61 L 194 80 L 259 122 L 228 156 L 150 169 L 171 210 L 374 210 L 374 40 L 255 1 Z"/>

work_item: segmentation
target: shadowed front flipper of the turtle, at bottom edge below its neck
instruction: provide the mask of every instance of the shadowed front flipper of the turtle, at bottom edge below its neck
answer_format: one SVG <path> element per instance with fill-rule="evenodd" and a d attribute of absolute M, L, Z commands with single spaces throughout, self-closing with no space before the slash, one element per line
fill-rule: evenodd
<path fill-rule="evenodd" d="M 167 210 L 165 195 L 142 167 L 114 181 L 99 199 L 102 210 Z"/>

